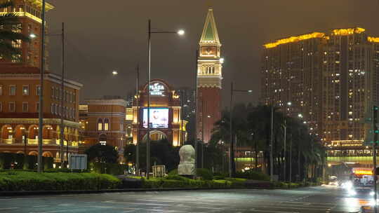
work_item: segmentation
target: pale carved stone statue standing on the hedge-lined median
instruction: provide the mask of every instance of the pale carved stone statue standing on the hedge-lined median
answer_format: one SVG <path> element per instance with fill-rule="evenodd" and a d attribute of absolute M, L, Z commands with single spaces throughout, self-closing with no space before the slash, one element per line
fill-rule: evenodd
<path fill-rule="evenodd" d="M 194 175 L 194 147 L 191 145 L 182 146 L 179 149 L 180 163 L 178 165 L 179 175 Z"/>

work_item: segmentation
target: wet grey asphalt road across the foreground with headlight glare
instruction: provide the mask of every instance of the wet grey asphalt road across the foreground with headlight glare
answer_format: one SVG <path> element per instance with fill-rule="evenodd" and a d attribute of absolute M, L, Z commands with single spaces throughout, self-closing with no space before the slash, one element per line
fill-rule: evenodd
<path fill-rule="evenodd" d="M 1 197 L 0 212 L 358 212 L 369 200 L 338 187 L 149 191 Z"/>

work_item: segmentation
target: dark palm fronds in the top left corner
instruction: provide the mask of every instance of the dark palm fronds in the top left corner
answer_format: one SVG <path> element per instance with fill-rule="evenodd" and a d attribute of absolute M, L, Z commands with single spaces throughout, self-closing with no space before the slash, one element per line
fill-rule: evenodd
<path fill-rule="evenodd" d="M 13 8 L 13 1 L 6 1 L 0 4 L 0 9 Z M 20 48 L 12 45 L 21 41 L 29 41 L 28 37 L 21 32 L 21 25 L 15 13 L 5 13 L 0 15 L 0 57 L 11 59 L 14 55 L 20 54 Z"/>

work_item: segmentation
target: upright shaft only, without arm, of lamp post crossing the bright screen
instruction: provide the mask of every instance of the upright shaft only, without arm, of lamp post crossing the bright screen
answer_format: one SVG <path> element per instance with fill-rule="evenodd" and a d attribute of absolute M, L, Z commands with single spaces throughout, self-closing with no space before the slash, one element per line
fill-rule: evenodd
<path fill-rule="evenodd" d="M 148 40 L 147 40 L 147 57 L 148 57 L 148 68 L 147 68 L 147 142 L 146 142 L 146 177 L 149 179 L 150 173 L 150 55 L 151 55 L 151 20 L 148 21 Z"/>

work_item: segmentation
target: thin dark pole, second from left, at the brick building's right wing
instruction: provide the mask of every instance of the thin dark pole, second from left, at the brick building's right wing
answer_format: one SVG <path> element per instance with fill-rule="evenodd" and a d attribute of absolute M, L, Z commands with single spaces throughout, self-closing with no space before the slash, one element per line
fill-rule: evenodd
<path fill-rule="evenodd" d="M 61 80 L 60 81 L 60 95 L 62 97 L 62 99 L 60 99 L 60 166 L 63 167 L 63 162 L 64 162 L 64 158 L 63 158 L 63 146 L 64 146 L 64 141 L 65 141 L 65 133 L 64 133 L 64 118 L 63 118 L 63 109 L 64 109 L 64 105 L 65 105 L 65 102 L 63 100 L 63 97 L 65 95 L 65 93 L 63 91 L 65 91 L 65 23 L 62 22 L 62 76 L 61 76 Z"/>

